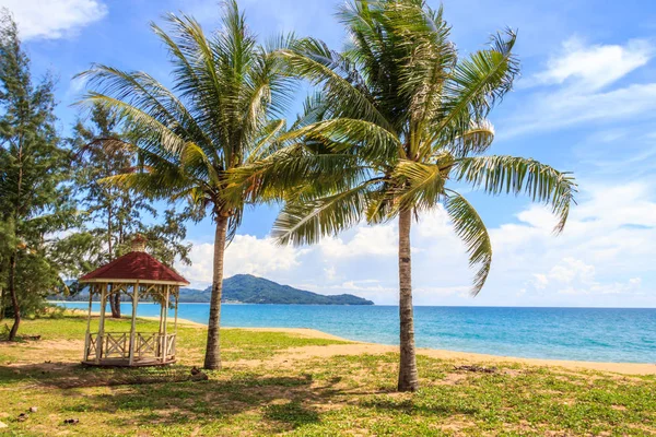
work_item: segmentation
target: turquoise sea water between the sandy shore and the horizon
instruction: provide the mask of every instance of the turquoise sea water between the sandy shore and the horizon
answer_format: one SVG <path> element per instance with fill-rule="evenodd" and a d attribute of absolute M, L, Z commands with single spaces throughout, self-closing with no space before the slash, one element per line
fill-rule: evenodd
<path fill-rule="evenodd" d="M 67 303 L 69 308 L 89 304 Z M 99 305 L 94 304 L 94 310 Z M 124 314 L 131 312 L 122 304 Z M 140 304 L 140 316 L 160 307 Z M 207 323 L 208 304 L 180 304 L 179 317 Z M 171 315 L 173 316 L 173 314 Z M 420 347 L 529 358 L 656 363 L 656 309 L 415 307 Z M 314 328 L 351 340 L 398 344 L 398 307 L 222 306 L 225 327 Z"/>

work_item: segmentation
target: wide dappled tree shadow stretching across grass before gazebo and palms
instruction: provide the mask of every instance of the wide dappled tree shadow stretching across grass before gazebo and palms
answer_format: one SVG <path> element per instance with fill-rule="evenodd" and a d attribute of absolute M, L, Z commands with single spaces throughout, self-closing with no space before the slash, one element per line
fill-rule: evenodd
<path fill-rule="evenodd" d="M 62 363 L 52 364 L 61 366 Z M 476 408 L 448 399 L 430 400 L 413 395 L 390 395 L 390 389 L 344 387 L 341 376 L 321 378 L 312 374 L 269 375 L 267 370 L 209 373 L 209 380 L 179 381 L 176 375 L 190 375 L 190 367 L 143 369 L 99 369 L 70 365 L 40 374 L 43 365 L 20 367 L 14 380 L 37 380 L 46 389 L 68 398 L 60 408 L 67 417 L 91 421 L 101 413 L 104 425 L 113 427 L 194 426 L 221 427 L 248 421 L 262 433 L 283 433 L 320 424 L 321 405 L 348 405 L 409 416 L 448 417 L 475 415 Z M 15 367 L 1 367 L 0 379 Z M 174 383 L 175 382 L 175 383 Z M 81 390 L 82 388 L 99 388 Z M 103 389 L 105 387 L 105 389 Z M 110 387 L 110 389 L 106 389 Z M 72 395 L 79 394 L 79 395 Z M 222 430 L 222 432 L 223 432 Z"/>

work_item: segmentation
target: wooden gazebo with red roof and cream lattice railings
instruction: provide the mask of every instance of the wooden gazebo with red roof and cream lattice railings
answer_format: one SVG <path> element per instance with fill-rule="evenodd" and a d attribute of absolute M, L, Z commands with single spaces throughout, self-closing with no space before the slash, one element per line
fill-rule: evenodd
<path fill-rule="evenodd" d="M 161 366 L 175 363 L 175 340 L 180 285 L 189 282 L 145 252 L 145 239 L 137 236 L 132 251 L 80 277 L 89 284 L 89 316 L 82 364 L 108 367 Z M 130 332 L 105 331 L 105 307 L 115 294 L 126 294 L 132 302 Z M 101 298 L 97 331 L 92 332 L 93 297 Z M 139 299 L 152 298 L 160 304 L 157 332 L 137 332 Z M 173 299 L 173 302 L 172 302 Z M 173 333 L 168 331 L 168 308 L 175 308 Z"/>

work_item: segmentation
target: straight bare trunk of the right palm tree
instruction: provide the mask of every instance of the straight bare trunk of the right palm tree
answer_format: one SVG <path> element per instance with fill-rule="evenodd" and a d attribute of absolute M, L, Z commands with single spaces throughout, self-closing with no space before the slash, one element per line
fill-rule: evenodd
<path fill-rule="evenodd" d="M 417 391 L 419 389 L 414 355 L 414 318 L 412 315 L 411 223 L 412 211 L 401 211 L 399 213 L 399 318 L 401 320 L 399 391 Z"/>

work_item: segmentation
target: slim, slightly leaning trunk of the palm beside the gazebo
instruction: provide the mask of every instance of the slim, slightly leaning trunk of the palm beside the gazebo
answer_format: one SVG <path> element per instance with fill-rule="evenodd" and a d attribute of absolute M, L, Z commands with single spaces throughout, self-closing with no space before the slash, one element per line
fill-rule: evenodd
<path fill-rule="evenodd" d="M 204 368 L 216 370 L 221 368 L 221 347 L 219 327 L 221 324 L 221 294 L 223 291 L 223 257 L 225 255 L 225 233 L 227 217 L 218 214 L 216 232 L 214 234 L 214 272 L 212 280 L 212 297 L 210 299 L 210 320 L 208 321 L 208 344 L 206 350 Z"/>

